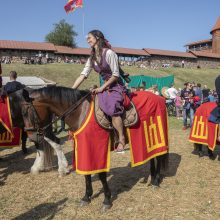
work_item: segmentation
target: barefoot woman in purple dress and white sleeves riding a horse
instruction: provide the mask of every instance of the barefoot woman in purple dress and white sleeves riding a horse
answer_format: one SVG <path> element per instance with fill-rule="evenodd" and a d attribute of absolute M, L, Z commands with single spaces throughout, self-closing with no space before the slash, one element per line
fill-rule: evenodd
<path fill-rule="evenodd" d="M 92 69 L 99 73 L 104 84 L 94 89 L 94 93 L 98 95 L 100 108 L 112 118 L 113 127 L 118 132 L 119 142 L 116 151 L 123 152 L 125 137 L 121 116 L 124 112 L 123 93 L 126 92 L 126 88 L 120 78 L 118 57 L 110 49 L 110 44 L 99 30 L 90 31 L 87 42 L 92 48 L 91 55 L 72 88 L 78 88 L 89 76 Z"/>

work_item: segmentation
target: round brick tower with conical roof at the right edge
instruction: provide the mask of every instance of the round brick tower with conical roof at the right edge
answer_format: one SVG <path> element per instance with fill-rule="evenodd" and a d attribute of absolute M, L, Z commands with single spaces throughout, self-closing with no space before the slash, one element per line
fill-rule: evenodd
<path fill-rule="evenodd" d="M 220 53 L 220 17 L 212 28 L 210 34 L 212 35 L 212 52 Z"/>

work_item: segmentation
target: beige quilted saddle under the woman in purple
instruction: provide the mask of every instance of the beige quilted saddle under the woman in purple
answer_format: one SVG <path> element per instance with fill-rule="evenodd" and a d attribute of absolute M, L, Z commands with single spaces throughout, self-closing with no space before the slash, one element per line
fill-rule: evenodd
<path fill-rule="evenodd" d="M 110 118 L 101 110 L 99 107 L 99 101 L 98 96 L 95 96 L 94 99 L 95 102 L 95 118 L 99 126 L 101 126 L 104 129 L 112 130 L 112 122 Z M 138 122 L 138 113 L 135 108 L 135 105 L 129 101 L 129 104 L 126 104 L 124 114 L 122 115 L 122 121 L 124 124 L 124 127 L 131 127 L 135 125 Z"/>

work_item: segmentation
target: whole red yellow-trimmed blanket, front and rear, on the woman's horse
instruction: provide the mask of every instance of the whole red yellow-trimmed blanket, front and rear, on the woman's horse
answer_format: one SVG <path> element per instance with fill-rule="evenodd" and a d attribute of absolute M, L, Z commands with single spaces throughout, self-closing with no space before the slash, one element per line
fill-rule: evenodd
<path fill-rule="evenodd" d="M 168 126 L 165 99 L 146 91 L 132 94 L 139 122 L 127 128 L 131 148 L 131 166 L 168 153 Z M 94 115 L 94 103 L 81 128 L 73 133 L 73 168 L 79 174 L 110 170 L 110 134 L 100 127 Z"/>

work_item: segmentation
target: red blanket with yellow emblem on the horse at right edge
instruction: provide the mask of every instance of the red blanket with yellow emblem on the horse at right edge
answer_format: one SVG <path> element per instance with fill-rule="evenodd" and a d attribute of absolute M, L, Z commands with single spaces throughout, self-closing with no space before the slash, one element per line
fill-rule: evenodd
<path fill-rule="evenodd" d="M 219 125 L 208 119 L 216 106 L 215 102 L 207 102 L 197 108 L 189 135 L 190 142 L 207 145 L 212 151 L 215 149 Z"/>

